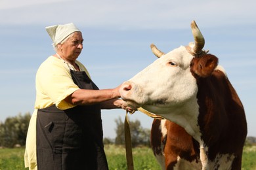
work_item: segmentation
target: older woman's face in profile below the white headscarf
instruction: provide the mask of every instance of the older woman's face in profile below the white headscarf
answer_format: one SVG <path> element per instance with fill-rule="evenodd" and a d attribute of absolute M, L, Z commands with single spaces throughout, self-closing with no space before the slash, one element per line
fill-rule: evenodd
<path fill-rule="evenodd" d="M 70 37 L 60 44 L 60 54 L 69 61 L 75 61 L 83 49 L 83 36 L 81 32 L 74 32 Z"/>

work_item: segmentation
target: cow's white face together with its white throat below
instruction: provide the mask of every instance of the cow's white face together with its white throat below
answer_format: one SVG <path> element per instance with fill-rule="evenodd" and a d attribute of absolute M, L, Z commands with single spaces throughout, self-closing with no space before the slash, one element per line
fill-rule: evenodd
<path fill-rule="evenodd" d="M 129 106 L 159 114 L 200 140 L 198 86 L 190 72 L 193 58 L 186 47 L 176 48 L 124 83 L 131 90 L 121 87 L 120 93 Z"/>

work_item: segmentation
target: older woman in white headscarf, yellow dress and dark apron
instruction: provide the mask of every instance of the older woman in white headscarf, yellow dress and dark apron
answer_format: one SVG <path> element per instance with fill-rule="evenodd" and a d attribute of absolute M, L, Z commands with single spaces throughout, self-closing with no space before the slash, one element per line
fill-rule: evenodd
<path fill-rule="evenodd" d="M 74 24 L 46 27 L 56 54 L 39 67 L 35 110 L 26 140 L 30 169 L 108 169 L 100 109 L 129 109 L 119 86 L 98 90 L 77 61 L 83 36 Z"/>

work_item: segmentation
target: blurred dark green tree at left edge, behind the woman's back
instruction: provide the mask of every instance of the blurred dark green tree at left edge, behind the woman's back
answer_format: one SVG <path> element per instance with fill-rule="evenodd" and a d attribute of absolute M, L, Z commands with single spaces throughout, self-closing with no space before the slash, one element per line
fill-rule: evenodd
<path fill-rule="evenodd" d="M 24 146 L 26 144 L 26 135 L 30 123 L 30 113 L 18 114 L 18 116 L 9 117 L 4 123 L 0 124 L 0 145 L 13 147 L 14 144 Z"/>

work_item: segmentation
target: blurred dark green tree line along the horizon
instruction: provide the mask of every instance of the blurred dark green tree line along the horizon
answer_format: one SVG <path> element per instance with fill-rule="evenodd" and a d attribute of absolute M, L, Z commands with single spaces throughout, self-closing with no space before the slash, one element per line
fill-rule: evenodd
<path fill-rule="evenodd" d="M 12 148 L 16 144 L 25 146 L 26 135 L 30 123 L 31 114 L 18 114 L 17 116 L 9 117 L 5 122 L 0 122 L 0 146 Z M 116 122 L 116 138 L 104 138 L 104 144 L 125 144 L 124 123 L 121 118 L 117 118 Z M 131 139 L 133 147 L 140 144 L 150 145 L 150 129 L 145 129 L 140 125 L 139 120 L 129 121 L 131 129 Z"/>

